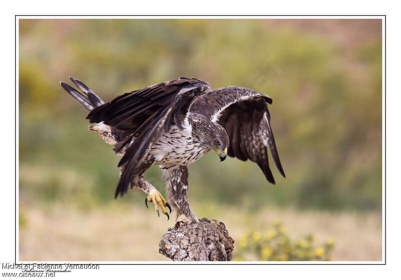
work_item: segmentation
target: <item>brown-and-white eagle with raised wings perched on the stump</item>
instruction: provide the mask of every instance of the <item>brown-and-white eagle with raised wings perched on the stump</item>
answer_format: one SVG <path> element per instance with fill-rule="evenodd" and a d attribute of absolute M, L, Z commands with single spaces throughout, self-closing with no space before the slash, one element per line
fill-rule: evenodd
<path fill-rule="evenodd" d="M 283 177 L 267 103 L 272 99 L 245 87 L 229 86 L 211 90 L 208 82 L 196 78 L 151 85 L 103 102 L 78 79 L 71 78 L 82 91 L 61 82 L 61 86 L 90 112 L 86 117 L 96 131 L 120 156 L 120 181 L 115 198 L 128 189 L 142 189 L 159 215 L 171 207 L 143 173 L 152 165 L 163 170 L 168 199 L 177 211 L 198 221 L 187 198 L 188 168 L 210 151 L 221 161 L 228 156 L 251 160 L 274 184 L 267 146 Z"/>

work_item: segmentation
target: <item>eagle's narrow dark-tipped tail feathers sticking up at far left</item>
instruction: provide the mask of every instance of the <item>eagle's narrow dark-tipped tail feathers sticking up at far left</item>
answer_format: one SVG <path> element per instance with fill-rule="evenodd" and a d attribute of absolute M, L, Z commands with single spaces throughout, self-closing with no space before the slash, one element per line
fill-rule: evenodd
<path fill-rule="evenodd" d="M 104 101 L 100 99 L 89 87 L 78 79 L 71 78 L 71 81 L 81 90 L 84 94 L 77 91 L 75 88 L 65 82 L 60 82 L 61 86 L 77 99 L 87 110 L 92 111 L 94 108 L 104 104 Z"/>

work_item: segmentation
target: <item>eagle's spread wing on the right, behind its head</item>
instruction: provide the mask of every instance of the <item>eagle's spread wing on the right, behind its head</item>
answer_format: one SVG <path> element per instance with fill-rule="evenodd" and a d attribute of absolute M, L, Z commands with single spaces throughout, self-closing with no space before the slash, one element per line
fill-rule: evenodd
<path fill-rule="evenodd" d="M 283 177 L 285 174 L 270 126 L 267 103 L 272 104 L 272 99 L 265 94 L 249 88 L 230 86 L 200 96 L 190 111 L 220 123 L 230 138 L 228 156 L 253 161 L 262 169 L 266 179 L 274 184 L 267 146 L 270 147 L 280 174 Z"/>

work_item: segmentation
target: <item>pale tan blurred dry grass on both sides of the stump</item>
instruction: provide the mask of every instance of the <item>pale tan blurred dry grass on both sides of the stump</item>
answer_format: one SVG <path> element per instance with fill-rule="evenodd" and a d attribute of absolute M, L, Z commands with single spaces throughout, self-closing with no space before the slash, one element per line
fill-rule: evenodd
<path fill-rule="evenodd" d="M 59 206 L 22 210 L 20 260 L 168 260 L 158 253 L 158 243 L 174 222 L 157 218 L 151 209 L 114 204 L 90 212 Z M 266 209 L 246 214 L 235 208 L 195 207 L 195 213 L 211 211 L 219 213 L 235 240 L 248 230 L 263 233 L 272 220 L 280 219 L 292 238 L 314 233 L 316 244 L 334 238 L 333 260 L 381 260 L 381 216 L 377 213 Z"/>

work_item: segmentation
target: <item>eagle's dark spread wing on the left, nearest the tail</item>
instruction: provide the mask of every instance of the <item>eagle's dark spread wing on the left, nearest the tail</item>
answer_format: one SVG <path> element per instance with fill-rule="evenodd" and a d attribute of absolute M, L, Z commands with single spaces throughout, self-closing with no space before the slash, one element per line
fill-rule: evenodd
<path fill-rule="evenodd" d="M 172 124 L 182 128 L 181 123 L 187 117 L 192 102 L 209 90 L 210 85 L 205 81 L 179 77 L 125 93 L 89 113 L 87 119 L 90 122 L 103 121 L 124 131 L 124 141 L 119 150 L 130 145 L 125 147 L 126 153 L 118 163 L 118 167 L 124 165 L 124 170 L 115 197 L 128 190 L 133 172 L 146 159 L 163 129 L 168 131 Z"/>

